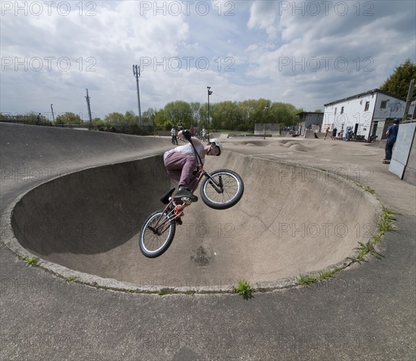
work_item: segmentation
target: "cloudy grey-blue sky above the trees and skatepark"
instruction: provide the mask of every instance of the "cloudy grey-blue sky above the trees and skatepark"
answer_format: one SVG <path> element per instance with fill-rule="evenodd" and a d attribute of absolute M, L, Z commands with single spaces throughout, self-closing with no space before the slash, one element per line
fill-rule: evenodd
<path fill-rule="evenodd" d="M 305 111 L 380 87 L 416 62 L 416 2 L 1 1 L 9 114 L 94 116 L 174 100 L 266 98 Z"/>

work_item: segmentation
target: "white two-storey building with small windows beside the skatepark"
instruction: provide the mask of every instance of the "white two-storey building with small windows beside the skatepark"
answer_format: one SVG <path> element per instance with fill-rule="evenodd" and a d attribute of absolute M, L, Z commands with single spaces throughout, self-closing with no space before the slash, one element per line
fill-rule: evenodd
<path fill-rule="evenodd" d="M 349 96 L 324 104 L 322 130 L 337 128 L 343 130 L 344 137 L 349 129 L 366 140 L 377 136 L 385 138 L 385 129 L 393 118 L 403 118 L 406 99 L 380 89 L 372 89 L 365 93 Z M 351 128 L 349 128 L 351 127 Z"/>

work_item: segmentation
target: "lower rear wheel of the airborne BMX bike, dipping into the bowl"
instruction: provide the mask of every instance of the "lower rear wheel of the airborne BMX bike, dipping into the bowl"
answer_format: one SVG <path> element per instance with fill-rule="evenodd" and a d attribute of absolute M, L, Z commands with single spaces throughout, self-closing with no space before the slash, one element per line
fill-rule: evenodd
<path fill-rule="evenodd" d="M 161 256 L 175 237 L 176 224 L 166 213 L 157 211 L 148 216 L 141 227 L 139 248 L 148 258 Z"/>

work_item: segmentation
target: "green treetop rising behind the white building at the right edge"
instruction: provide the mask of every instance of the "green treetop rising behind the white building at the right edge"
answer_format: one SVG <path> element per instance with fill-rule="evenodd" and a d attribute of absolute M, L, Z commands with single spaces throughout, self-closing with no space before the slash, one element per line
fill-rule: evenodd
<path fill-rule="evenodd" d="M 385 80 L 380 89 L 391 94 L 407 98 L 410 81 L 416 78 L 416 64 L 407 59 L 406 62 L 395 68 L 395 72 Z M 416 88 L 413 96 L 416 95 Z"/>

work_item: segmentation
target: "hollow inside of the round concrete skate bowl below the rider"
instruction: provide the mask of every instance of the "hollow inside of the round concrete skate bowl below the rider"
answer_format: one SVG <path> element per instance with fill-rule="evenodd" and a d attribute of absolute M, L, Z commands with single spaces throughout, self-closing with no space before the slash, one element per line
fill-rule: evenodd
<path fill-rule="evenodd" d="M 14 241 L 46 269 L 94 285 L 227 290 L 238 279 L 274 288 L 337 267 L 376 231 L 378 203 L 353 182 L 228 150 L 208 158 L 207 170 L 228 168 L 243 177 L 243 198 L 224 211 L 202 200 L 189 206 L 159 258 L 144 257 L 138 238 L 172 185 L 162 152 L 85 167 L 31 188 L 11 206 Z"/>

